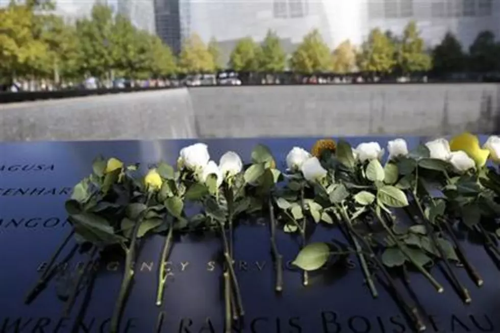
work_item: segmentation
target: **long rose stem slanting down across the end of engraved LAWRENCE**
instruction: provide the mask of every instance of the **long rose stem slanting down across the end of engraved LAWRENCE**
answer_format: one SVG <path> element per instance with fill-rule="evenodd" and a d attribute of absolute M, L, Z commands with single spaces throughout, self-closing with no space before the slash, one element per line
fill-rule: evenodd
<path fill-rule="evenodd" d="M 148 200 L 149 201 L 149 198 Z M 146 201 L 146 206 L 147 206 Z M 146 211 L 146 210 L 144 210 Z M 143 217 L 140 216 L 137 223 L 134 225 L 132 230 L 132 239 L 130 240 L 129 249 L 125 252 L 125 270 L 123 272 L 123 278 L 121 280 L 120 292 L 118 294 L 118 299 L 116 300 L 115 309 L 113 311 L 113 317 L 111 317 L 111 328 L 110 333 L 118 333 L 118 325 L 121 316 L 121 311 L 123 309 L 123 303 L 127 296 L 127 291 L 129 289 L 132 278 L 134 277 L 134 269 L 132 267 L 132 262 L 135 257 L 135 243 L 137 241 L 137 232 L 139 231 L 139 226 L 142 224 Z"/>

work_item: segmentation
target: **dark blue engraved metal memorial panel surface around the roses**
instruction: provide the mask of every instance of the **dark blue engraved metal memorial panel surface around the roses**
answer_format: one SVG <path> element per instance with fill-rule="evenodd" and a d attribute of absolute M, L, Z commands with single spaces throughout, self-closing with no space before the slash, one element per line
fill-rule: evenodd
<path fill-rule="evenodd" d="M 389 138 L 352 138 L 353 145 L 377 139 L 385 146 Z M 415 146 L 420 139 L 407 139 Z M 252 147 L 267 144 L 277 160 L 283 161 L 295 145 L 310 148 L 309 139 L 205 140 L 215 161 L 226 150 L 235 150 L 249 159 Z M 102 263 L 92 288 L 79 296 L 70 318 L 61 318 L 62 302 L 52 283 L 33 304 L 22 304 L 24 293 L 37 279 L 54 247 L 69 229 L 63 202 L 64 195 L 50 192 L 40 195 L 10 195 L 19 189 L 61 189 L 71 187 L 90 171 L 96 153 L 114 156 L 126 162 L 140 162 L 141 168 L 164 159 L 173 163 L 181 147 L 191 141 L 123 141 L 123 142 L 55 142 L 0 144 L 0 331 L 2 332 L 106 332 L 115 302 L 123 263 L 110 259 Z M 280 164 L 278 164 L 280 165 Z M 3 195 L 2 193 L 9 193 Z M 298 243 L 284 233 L 278 234 L 285 255 L 285 291 L 277 297 L 272 292 L 272 262 L 267 243 L 268 230 L 259 225 L 242 225 L 237 229 L 235 270 L 245 302 L 244 327 L 235 332 L 333 333 L 333 332 L 409 332 L 405 318 L 383 289 L 374 300 L 363 284 L 363 276 L 352 258 L 334 268 L 313 273 L 310 286 L 303 287 L 301 274 L 289 264 Z M 312 241 L 342 236 L 335 230 L 318 227 Z M 136 262 L 136 281 L 121 324 L 121 332 L 155 331 L 157 317 L 164 312 L 157 332 L 223 331 L 219 241 L 208 237 L 200 242 L 194 237 L 176 240 L 167 265 L 165 301 L 155 306 L 156 270 L 162 245 L 160 237 L 143 244 Z M 483 332 L 500 331 L 496 315 L 500 290 L 495 281 L 500 272 L 485 256 L 481 246 L 464 243 L 470 258 L 486 278 L 481 289 L 464 278 L 473 302 L 463 305 L 438 269 L 433 274 L 447 290 L 436 294 L 420 275 L 411 276 L 415 296 L 427 311 L 428 331 Z M 67 271 L 79 267 L 81 259 L 73 258 Z M 459 274 L 465 272 L 457 269 Z M 491 281 L 491 283 L 489 283 Z M 89 292 L 86 313 L 83 299 Z M 81 315 L 81 314 L 80 314 Z"/>

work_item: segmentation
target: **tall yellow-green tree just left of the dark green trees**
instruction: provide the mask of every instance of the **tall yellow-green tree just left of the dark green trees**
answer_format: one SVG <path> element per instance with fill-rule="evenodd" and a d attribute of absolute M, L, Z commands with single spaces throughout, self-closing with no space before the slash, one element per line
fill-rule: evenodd
<path fill-rule="evenodd" d="M 401 44 L 397 48 L 397 66 L 404 74 L 431 69 L 432 58 L 426 53 L 415 21 L 410 21 L 403 31 Z"/>

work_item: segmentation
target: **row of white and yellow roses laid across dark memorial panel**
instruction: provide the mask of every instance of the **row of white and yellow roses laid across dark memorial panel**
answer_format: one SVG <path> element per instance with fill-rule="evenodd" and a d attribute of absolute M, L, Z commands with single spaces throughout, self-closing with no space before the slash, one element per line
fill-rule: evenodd
<path fill-rule="evenodd" d="M 287 170 L 280 171 L 266 146 L 253 149 L 248 165 L 233 151 L 226 152 L 217 165 L 210 159 L 208 146 L 196 143 L 180 151 L 177 166 L 161 162 L 145 176 L 138 174 L 136 165 L 98 158 L 92 173 L 74 187 L 66 202 L 72 232 L 49 260 L 27 301 L 47 284 L 71 238 L 91 245 L 87 267 L 103 252 L 117 248 L 126 258 L 111 321 L 115 333 L 134 278 L 139 240 L 164 235 L 156 297 L 156 304 L 161 305 L 174 234 L 211 230 L 220 235 L 223 248 L 225 327 L 230 332 L 233 321 L 244 315 L 233 269 L 237 256 L 234 230 L 243 218 L 265 216 L 276 292 L 284 288 L 276 234 L 297 233 L 302 244 L 293 264 L 302 270 L 304 286 L 308 272 L 329 265 L 334 256 L 356 255 L 373 297 L 378 295 L 373 278 L 377 273 L 415 329 L 423 331 L 426 327 L 416 305 L 399 290 L 391 269 L 401 268 L 407 279 L 407 269 L 415 270 L 441 293 L 444 287 L 431 274 L 432 266 L 440 262 L 462 300 L 471 301 L 452 266 L 463 265 L 478 287 L 483 279 L 454 230 L 463 227 L 479 234 L 487 250 L 500 259 L 495 240 L 495 218 L 500 214 L 500 174 L 495 165 L 500 162 L 500 137 L 490 137 L 481 147 L 477 136 L 463 133 L 449 142 L 440 138 L 411 150 L 405 140 L 396 139 L 389 141 L 387 150 L 389 156 L 383 163 L 385 151 L 377 142 L 353 148 L 343 140 L 319 140 L 311 152 L 294 147 L 286 157 Z M 192 203 L 195 214 L 190 214 Z M 339 228 L 349 245 L 308 244 L 308 228 L 313 223 Z M 82 269 L 76 278 L 67 311 L 86 272 Z"/>

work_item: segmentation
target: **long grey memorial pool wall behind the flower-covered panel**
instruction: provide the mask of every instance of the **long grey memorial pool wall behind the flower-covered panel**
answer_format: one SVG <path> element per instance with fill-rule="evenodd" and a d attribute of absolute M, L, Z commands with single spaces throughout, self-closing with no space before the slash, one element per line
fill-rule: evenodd
<path fill-rule="evenodd" d="M 0 121 L 2 141 L 489 134 L 500 85 L 179 88 L 0 105 Z"/>

